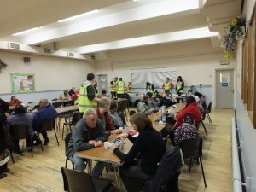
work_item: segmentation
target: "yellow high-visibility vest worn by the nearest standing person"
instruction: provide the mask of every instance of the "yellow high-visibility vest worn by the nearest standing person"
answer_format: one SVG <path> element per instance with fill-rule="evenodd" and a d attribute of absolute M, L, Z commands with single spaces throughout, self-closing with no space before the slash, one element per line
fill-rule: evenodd
<path fill-rule="evenodd" d="M 80 88 L 80 96 L 79 96 L 79 112 L 84 113 L 90 108 L 97 108 L 96 102 L 91 102 L 87 95 L 87 87 L 91 85 L 90 82 L 86 81 L 84 86 Z"/>

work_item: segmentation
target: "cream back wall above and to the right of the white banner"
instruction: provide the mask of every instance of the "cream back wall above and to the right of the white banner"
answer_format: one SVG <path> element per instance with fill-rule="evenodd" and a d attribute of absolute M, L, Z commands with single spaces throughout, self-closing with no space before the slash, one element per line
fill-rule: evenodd
<path fill-rule="evenodd" d="M 219 64 L 223 60 L 223 53 L 212 49 L 210 39 L 201 39 L 110 51 L 108 60 L 96 62 L 96 73 L 107 74 L 108 82 L 115 76 L 128 82 L 134 68 L 176 67 L 177 76 L 183 77 L 185 86 L 203 84 L 202 93 L 212 102 L 214 69 L 227 67 Z M 234 63 L 231 61 L 233 67 Z"/>

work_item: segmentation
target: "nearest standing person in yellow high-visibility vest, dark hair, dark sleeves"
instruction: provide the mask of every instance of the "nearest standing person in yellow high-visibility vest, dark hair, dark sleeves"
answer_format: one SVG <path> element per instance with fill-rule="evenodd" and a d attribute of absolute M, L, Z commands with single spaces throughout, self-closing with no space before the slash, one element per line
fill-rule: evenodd
<path fill-rule="evenodd" d="M 97 108 L 97 102 L 101 102 L 100 98 L 96 97 L 96 90 L 94 87 L 95 75 L 88 73 L 86 81 L 80 88 L 79 96 L 79 112 L 83 113 L 90 108 Z"/>

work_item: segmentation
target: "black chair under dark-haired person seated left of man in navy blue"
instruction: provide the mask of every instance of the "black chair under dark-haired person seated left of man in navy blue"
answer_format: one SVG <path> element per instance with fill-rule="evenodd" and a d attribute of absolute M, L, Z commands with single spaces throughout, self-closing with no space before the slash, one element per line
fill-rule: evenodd
<path fill-rule="evenodd" d="M 28 126 L 27 125 L 10 125 L 9 126 L 9 133 L 14 138 L 14 140 L 26 139 L 29 137 Z M 31 143 L 31 156 L 33 157 L 33 137 L 30 137 Z M 43 149 L 43 145 L 41 143 L 41 148 Z M 11 153 L 11 159 L 14 161 L 13 155 Z"/>

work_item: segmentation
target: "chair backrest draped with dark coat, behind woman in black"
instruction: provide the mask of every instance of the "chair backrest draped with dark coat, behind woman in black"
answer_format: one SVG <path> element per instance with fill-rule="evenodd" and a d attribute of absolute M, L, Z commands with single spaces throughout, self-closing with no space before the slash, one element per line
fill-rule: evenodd
<path fill-rule="evenodd" d="M 171 147 L 163 155 L 156 175 L 144 185 L 144 192 L 166 192 L 168 185 L 172 183 L 172 178 L 177 175 L 182 166 L 180 149 Z M 171 190 L 172 191 L 172 190 Z"/>

